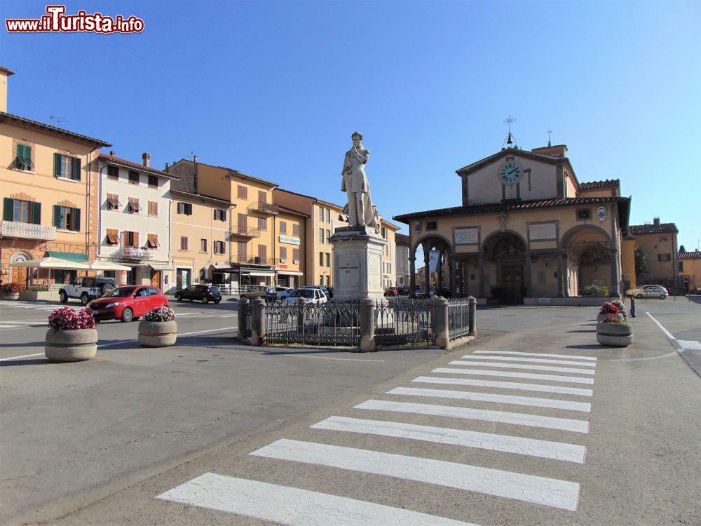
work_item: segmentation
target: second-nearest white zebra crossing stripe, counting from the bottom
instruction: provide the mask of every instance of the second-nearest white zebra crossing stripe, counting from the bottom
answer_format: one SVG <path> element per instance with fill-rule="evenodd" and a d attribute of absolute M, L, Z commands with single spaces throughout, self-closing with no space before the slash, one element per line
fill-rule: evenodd
<path fill-rule="evenodd" d="M 354 447 L 317 444 L 300 440 L 276 440 L 251 453 L 257 457 L 304 462 L 316 466 L 373 473 L 456 487 L 496 497 L 542 504 L 570 511 L 577 509 L 579 484 L 554 478 L 524 475 L 401 454 L 360 450 Z"/>

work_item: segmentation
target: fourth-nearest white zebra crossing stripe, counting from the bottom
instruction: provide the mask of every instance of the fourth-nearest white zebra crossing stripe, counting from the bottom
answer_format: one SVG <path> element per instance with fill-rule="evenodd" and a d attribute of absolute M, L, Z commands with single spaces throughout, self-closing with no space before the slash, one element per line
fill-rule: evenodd
<path fill-rule="evenodd" d="M 589 433 L 589 422 L 587 420 L 541 417 L 538 414 L 488 411 L 484 409 L 472 409 L 471 407 L 455 407 L 453 405 L 432 405 L 415 404 L 409 402 L 389 402 L 386 400 L 366 400 L 365 402 L 356 405 L 355 409 L 430 414 L 435 417 L 484 420 L 484 422 L 514 424 L 516 426 L 543 427 L 546 429 L 573 431 L 573 433 Z"/>

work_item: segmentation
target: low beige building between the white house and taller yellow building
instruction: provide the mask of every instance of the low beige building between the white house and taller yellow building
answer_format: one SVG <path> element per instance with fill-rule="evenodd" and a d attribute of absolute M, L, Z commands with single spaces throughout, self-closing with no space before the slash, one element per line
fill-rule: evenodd
<path fill-rule="evenodd" d="M 231 218 L 236 205 L 224 199 L 170 190 L 172 268 L 175 283 L 168 292 L 196 283 L 229 285 Z"/>

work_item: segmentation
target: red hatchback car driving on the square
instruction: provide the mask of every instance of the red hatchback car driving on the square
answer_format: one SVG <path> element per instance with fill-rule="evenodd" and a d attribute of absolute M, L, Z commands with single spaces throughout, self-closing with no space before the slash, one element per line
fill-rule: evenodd
<path fill-rule="evenodd" d="M 138 320 L 151 309 L 170 306 L 161 290 L 147 285 L 127 285 L 110 290 L 104 296 L 93 299 L 87 309 L 95 320 Z"/>

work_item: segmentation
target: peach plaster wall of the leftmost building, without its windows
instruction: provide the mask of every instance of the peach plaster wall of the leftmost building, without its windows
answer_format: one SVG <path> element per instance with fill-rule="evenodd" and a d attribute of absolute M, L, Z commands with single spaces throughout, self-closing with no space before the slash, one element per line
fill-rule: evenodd
<path fill-rule="evenodd" d="M 32 170 L 15 168 L 17 145 L 25 144 L 31 147 Z M 55 177 L 54 154 L 80 159 L 81 179 L 79 181 Z M 27 271 L 9 267 L 15 252 L 22 252 L 28 259 L 43 257 L 46 251 L 90 252 L 89 243 L 95 240 L 88 238 L 90 222 L 90 163 L 97 156 L 97 151 L 86 144 L 74 142 L 63 137 L 57 137 L 37 130 L 0 124 L 0 204 L 4 208 L 4 198 L 41 203 L 40 225 L 44 234 L 28 237 L 12 237 L 4 235 L 1 240 L 2 248 L 2 279 L 3 281 L 22 281 Z M 80 210 L 80 225 L 78 231 L 62 228 L 54 229 L 54 205 L 62 205 Z M 4 210 L 3 210 L 4 213 Z M 5 216 L 0 216 L 3 219 Z M 11 228 L 7 225 L 6 232 Z M 34 227 L 31 227 L 34 228 Z M 46 232 L 50 232 L 48 236 Z M 94 255 L 95 250 L 90 252 Z M 41 271 L 40 278 L 48 279 L 48 273 Z"/>

